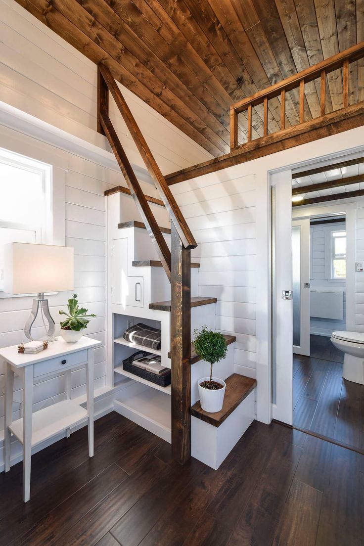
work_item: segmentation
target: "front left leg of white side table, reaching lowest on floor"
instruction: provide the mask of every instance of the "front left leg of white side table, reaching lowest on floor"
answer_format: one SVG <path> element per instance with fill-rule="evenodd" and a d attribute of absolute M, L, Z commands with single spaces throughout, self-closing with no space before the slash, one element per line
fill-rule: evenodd
<path fill-rule="evenodd" d="M 32 413 L 33 413 L 33 366 L 23 369 L 23 488 L 24 502 L 30 498 L 32 459 Z"/>

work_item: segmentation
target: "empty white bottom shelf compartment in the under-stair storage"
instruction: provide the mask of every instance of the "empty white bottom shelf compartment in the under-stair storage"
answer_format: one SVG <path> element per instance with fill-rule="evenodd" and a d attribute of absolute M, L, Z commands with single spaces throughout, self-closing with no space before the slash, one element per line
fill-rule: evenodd
<path fill-rule="evenodd" d="M 134 423 L 171 442 L 171 399 L 156 389 L 125 389 L 114 410 Z"/>

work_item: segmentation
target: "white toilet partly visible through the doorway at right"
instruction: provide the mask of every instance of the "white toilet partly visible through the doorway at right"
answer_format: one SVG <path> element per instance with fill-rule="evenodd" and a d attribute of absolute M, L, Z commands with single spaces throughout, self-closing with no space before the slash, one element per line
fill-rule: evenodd
<path fill-rule="evenodd" d="M 345 353 L 343 378 L 364 384 L 364 334 L 361 332 L 333 332 L 331 342 Z"/>

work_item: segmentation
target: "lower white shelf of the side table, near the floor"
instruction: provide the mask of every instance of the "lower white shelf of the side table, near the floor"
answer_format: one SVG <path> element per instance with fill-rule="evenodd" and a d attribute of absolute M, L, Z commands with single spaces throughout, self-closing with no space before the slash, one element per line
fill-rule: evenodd
<path fill-rule="evenodd" d="M 87 410 L 73 400 L 63 400 L 33 413 L 32 447 L 81 423 L 87 416 Z M 23 442 L 23 419 L 11 423 L 9 429 L 20 442 Z"/>

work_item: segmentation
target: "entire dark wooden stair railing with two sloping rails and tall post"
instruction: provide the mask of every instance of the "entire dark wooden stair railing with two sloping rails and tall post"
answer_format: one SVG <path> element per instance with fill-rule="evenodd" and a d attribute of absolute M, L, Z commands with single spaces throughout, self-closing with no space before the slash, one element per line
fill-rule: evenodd
<path fill-rule="evenodd" d="M 171 219 L 170 252 L 132 165 L 123 150 L 109 117 L 109 91 L 126 123 L 139 153 L 156 185 Z M 130 193 L 156 247 L 163 268 L 171 282 L 171 428 L 172 454 L 184 464 L 190 458 L 190 250 L 197 246 L 180 208 L 117 86 L 109 68 L 98 66 L 98 132 L 104 134 L 124 175 Z"/>

